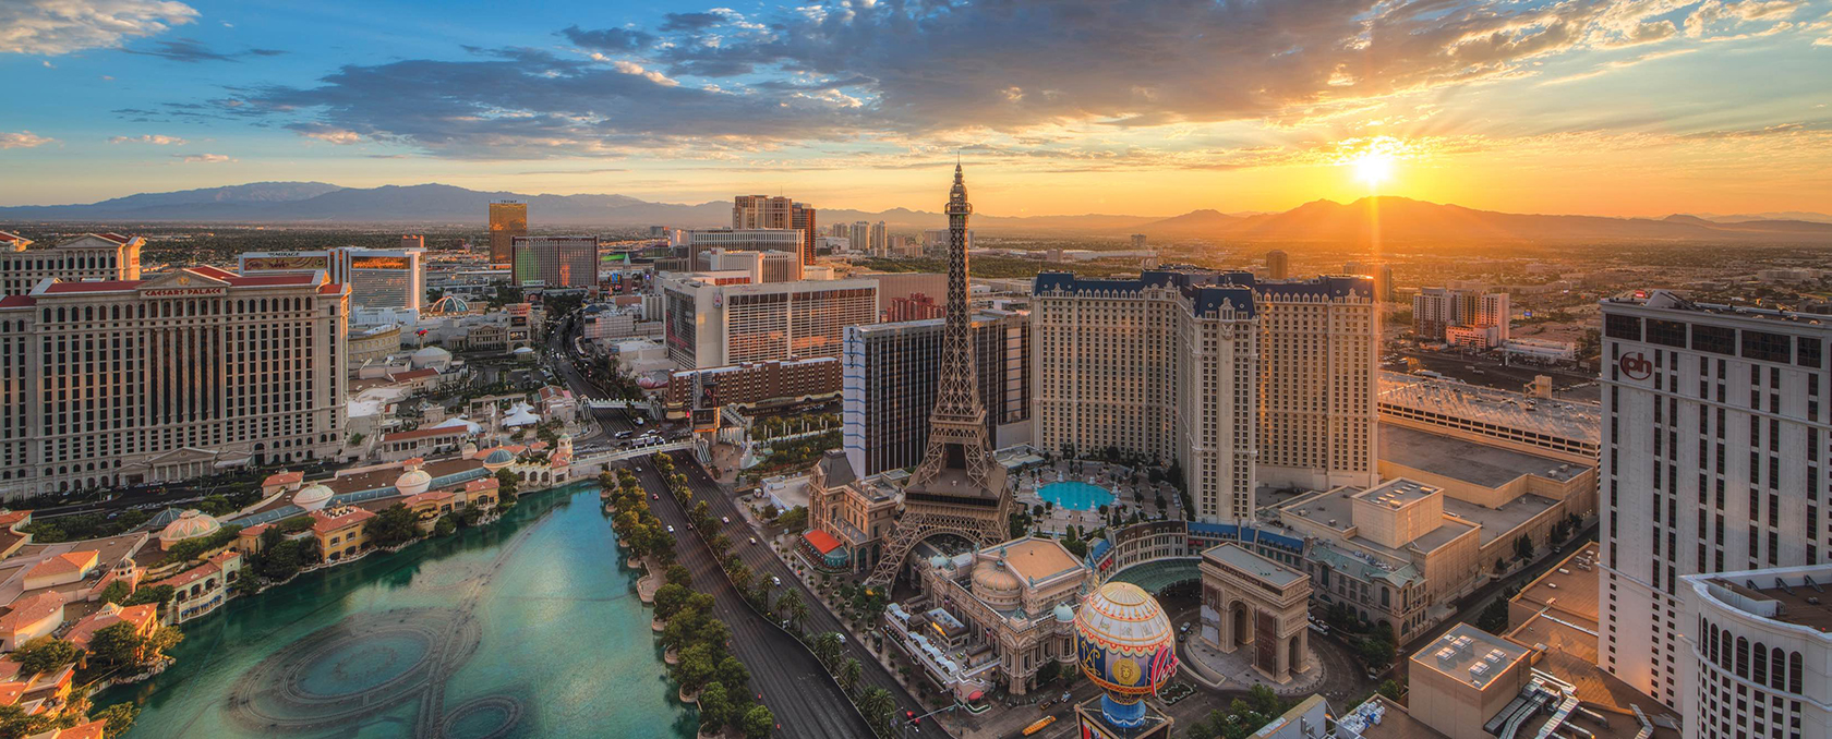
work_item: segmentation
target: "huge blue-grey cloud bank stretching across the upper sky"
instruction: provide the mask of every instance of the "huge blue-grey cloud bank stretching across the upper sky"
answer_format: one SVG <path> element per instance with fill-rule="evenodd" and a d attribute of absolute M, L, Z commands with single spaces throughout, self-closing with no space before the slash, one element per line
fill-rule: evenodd
<path fill-rule="evenodd" d="M 713 7 L 671 13 L 652 29 L 557 31 L 586 59 L 471 49 L 484 59 L 352 64 L 313 86 L 238 90 L 214 113 L 480 159 L 641 146 L 711 155 L 1064 124 L 1293 126 L 1392 95 L 1537 77 L 1548 59 L 1576 51 L 1773 33 L 1795 7 L 1797 0 L 837 0 L 757 18 Z M 1636 62 L 1647 59 L 1656 57 Z"/>

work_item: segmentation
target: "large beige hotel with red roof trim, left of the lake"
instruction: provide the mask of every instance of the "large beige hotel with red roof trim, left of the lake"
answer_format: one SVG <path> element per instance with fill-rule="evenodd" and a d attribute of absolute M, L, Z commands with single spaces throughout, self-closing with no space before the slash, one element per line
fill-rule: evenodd
<path fill-rule="evenodd" d="M 0 496 L 333 457 L 348 289 L 189 267 L 0 300 Z"/>

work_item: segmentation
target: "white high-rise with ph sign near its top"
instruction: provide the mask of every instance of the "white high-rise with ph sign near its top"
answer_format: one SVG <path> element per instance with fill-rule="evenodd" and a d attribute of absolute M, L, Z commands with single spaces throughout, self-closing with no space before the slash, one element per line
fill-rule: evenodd
<path fill-rule="evenodd" d="M 1599 662 L 1682 712 L 1698 646 L 1680 578 L 1832 551 L 1821 318 L 1667 291 L 1603 302 Z"/>

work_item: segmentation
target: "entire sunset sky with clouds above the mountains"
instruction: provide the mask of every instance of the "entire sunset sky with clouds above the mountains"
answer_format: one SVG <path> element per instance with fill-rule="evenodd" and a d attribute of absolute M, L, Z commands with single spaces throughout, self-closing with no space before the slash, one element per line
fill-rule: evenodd
<path fill-rule="evenodd" d="M 1828 0 L 7 0 L 0 79 L 0 205 L 311 179 L 936 210 L 958 154 L 1002 216 L 1832 210 Z"/>

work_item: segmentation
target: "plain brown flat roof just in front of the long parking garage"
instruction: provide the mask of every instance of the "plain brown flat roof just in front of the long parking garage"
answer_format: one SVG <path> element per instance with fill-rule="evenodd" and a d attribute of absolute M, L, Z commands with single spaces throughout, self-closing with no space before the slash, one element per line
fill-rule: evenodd
<path fill-rule="evenodd" d="M 1568 483 L 1572 477 L 1590 472 L 1588 465 L 1572 465 L 1390 423 L 1379 424 L 1379 461 L 1484 488 L 1499 488 L 1524 476 Z"/>

